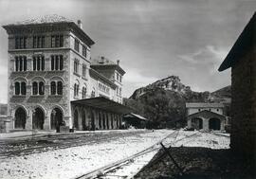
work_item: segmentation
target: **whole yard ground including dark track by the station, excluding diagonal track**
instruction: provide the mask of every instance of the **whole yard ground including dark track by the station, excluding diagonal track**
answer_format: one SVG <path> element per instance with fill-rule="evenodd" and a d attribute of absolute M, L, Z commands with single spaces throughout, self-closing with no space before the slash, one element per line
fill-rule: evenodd
<path fill-rule="evenodd" d="M 172 133 L 173 130 L 123 130 L 1 139 L 0 178 L 75 178 L 140 152 Z M 163 143 L 229 149 L 229 136 L 177 131 Z M 142 159 L 150 161 L 155 153 Z M 122 174 L 134 174 L 127 172 Z"/>

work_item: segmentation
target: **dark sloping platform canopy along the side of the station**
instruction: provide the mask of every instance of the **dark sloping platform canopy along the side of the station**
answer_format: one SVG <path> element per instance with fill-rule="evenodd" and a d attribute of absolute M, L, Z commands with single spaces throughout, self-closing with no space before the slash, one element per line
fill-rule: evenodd
<path fill-rule="evenodd" d="M 97 98 L 84 98 L 80 100 L 73 100 L 71 104 L 84 105 L 97 109 L 104 110 L 106 112 L 116 113 L 116 114 L 128 114 L 133 110 L 127 106 L 124 106 L 118 102 L 110 100 L 109 98 L 97 97 Z"/>

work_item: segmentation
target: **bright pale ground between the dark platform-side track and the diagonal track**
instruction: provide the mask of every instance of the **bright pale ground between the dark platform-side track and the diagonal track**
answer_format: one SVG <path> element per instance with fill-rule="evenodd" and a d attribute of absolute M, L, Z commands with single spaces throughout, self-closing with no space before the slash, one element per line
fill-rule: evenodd
<path fill-rule="evenodd" d="M 155 130 L 155 132 L 123 136 L 117 140 L 91 145 L 10 157 L 0 161 L 0 178 L 74 178 L 140 152 L 173 132 L 172 130 Z M 180 140 L 190 135 L 192 136 Z M 164 144 L 168 145 L 173 140 L 174 137 L 167 139 Z M 175 140 L 173 147 L 183 145 L 211 149 L 229 148 L 229 137 L 209 133 L 179 131 Z M 139 160 L 150 161 L 153 155 L 154 152 L 139 157 L 137 161 L 138 163 Z M 135 174 L 134 172 L 146 163 L 140 166 L 135 163 L 137 166 L 128 166 L 129 169 L 117 172 L 120 175 Z"/>

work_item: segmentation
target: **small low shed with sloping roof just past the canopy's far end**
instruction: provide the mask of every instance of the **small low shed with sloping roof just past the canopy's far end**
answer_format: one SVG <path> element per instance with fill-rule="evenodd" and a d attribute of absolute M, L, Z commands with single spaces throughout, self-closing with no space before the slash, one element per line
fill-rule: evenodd
<path fill-rule="evenodd" d="M 143 129 L 146 128 L 146 124 L 149 121 L 149 119 L 145 118 L 144 116 L 130 113 L 123 116 L 123 121 L 125 128 L 133 126 L 137 129 Z"/>

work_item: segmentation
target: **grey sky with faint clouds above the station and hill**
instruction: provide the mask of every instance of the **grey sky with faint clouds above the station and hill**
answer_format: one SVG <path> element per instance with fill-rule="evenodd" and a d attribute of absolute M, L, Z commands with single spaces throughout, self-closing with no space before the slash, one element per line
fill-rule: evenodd
<path fill-rule="evenodd" d="M 0 25 L 48 14 L 82 20 L 105 56 L 126 71 L 123 96 L 171 75 L 193 91 L 231 83 L 218 72 L 256 9 L 255 0 L 0 0 Z M 0 102 L 7 102 L 8 35 L 0 28 Z"/>

